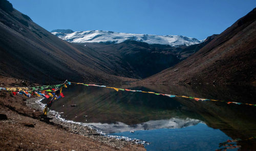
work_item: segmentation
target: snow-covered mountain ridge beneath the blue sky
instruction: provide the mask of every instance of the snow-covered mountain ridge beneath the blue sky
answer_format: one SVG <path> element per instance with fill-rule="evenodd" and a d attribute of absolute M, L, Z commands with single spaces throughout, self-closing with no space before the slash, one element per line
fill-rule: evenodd
<path fill-rule="evenodd" d="M 57 32 L 56 32 L 57 31 Z M 148 35 L 148 34 L 130 34 L 130 33 L 117 33 L 112 31 L 92 30 L 92 31 L 76 31 L 73 33 L 66 32 L 66 30 L 53 30 L 52 34 L 59 38 L 74 42 L 103 42 L 107 44 L 118 44 L 125 40 L 136 40 L 146 42 L 147 44 L 161 44 L 170 46 L 180 45 L 194 45 L 202 42 L 196 38 L 190 38 L 179 35 Z"/>

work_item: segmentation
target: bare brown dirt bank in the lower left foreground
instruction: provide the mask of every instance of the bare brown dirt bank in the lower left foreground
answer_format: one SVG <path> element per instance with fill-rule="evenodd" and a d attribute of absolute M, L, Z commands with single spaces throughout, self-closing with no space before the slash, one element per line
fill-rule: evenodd
<path fill-rule="evenodd" d="M 34 83 L 0 76 L 1 87 L 26 87 Z M 143 145 L 70 133 L 69 127 L 46 122 L 42 112 L 26 105 L 27 97 L 0 91 L 0 150 L 146 150 Z M 6 115 L 4 119 L 2 115 Z M 116 146 L 116 147 L 114 147 Z"/>

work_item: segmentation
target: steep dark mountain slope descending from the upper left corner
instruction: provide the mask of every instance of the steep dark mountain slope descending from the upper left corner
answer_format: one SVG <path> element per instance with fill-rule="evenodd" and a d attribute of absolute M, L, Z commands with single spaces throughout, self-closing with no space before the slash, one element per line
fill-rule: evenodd
<path fill-rule="evenodd" d="M 0 1 L 0 75 L 36 83 L 122 82 L 112 62 L 92 49 L 62 40 Z"/>

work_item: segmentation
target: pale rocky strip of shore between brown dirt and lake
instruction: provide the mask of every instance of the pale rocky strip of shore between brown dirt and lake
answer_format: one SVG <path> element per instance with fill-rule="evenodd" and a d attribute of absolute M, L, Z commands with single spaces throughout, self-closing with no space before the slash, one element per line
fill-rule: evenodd
<path fill-rule="evenodd" d="M 42 112 L 45 107 L 45 104 L 41 102 L 42 99 L 44 99 L 44 97 L 30 98 L 26 100 L 26 104 L 28 107 Z M 100 131 L 95 130 L 94 128 L 90 127 L 86 123 L 74 122 L 74 121 L 63 119 L 60 117 L 60 114 L 58 112 L 52 111 L 52 110 L 49 111 L 47 116 L 41 117 L 40 120 L 45 121 L 47 123 L 59 125 L 63 127 L 65 130 L 73 134 L 86 136 L 93 140 L 108 144 L 118 149 L 127 145 L 147 143 L 145 141 L 131 139 L 127 137 L 106 135 Z"/>

